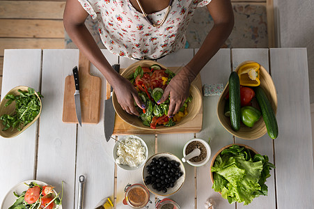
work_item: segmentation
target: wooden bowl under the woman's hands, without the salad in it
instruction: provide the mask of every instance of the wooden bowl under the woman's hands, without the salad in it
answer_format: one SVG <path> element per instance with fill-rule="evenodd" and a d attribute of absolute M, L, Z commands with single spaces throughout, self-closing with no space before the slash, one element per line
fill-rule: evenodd
<path fill-rule="evenodd" d="M 148 61 L 148 60 L 144 60 L 144 61 L 138 61 L 136 63 L 133 63 L 132 65 L 129 65 L 128 68 L 126 68 L 121 75 L 123 77 L 129 77 L 129 75 L 131 75 L 134 70 L 141 65 L 141 67 L 150 67 L 151 65 L 160 65 L 163 69 L 167 69 L 164 65 L 157 63 L 155 61 Z M 174 126 L 171 127 L 164 127 L 164 126 L 157 126 L 155 130 L 172 130 L 178 127 L 181 127 L 183 124 L 187 123 L 188 121 L 191 121 L 200 111 L 201 106 L 202 106 L 202 95 L 201 92 L 198 90 L 198 88 L 194 85 L 191 84 L 191 88 L 190 88 L 190 95 L 192 96 L 192 100 L 191 102 L 189 102 L 187 104 L 187 111 L 188 114 L 185 117 L 182 117 L 181 121 L 179 122 L 175 122 Z M 118 114 L 118 116 L 125 121 L 126 123 L 128 123 L 129 125 L 132 125 L 134 127 L 140 128 L 142 130 L 150 130 L 150 131 L 154 131 L 151 127 L 148 127 L 146 125 L 143 125 L 142 121 L 134 115 L 130 115 L 128 114 L 126 111 L 124 111 L 122 109 L 122 107 L 120 106 L 120 104 L 118 103 L 118 99 L 116 97 L 116 93 L 114 93 L 113 91 L 113 95 L 112 95 L 112 102 L 113 102 L 113 107 L 116 110 L 116 113 Z"/>

